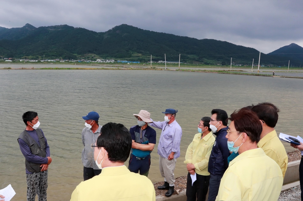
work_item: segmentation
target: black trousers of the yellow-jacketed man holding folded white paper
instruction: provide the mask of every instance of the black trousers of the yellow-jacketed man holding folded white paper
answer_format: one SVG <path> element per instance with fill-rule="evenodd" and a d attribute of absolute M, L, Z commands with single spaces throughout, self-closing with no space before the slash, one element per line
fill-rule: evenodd
<path fill-rule="evenodd" d="M 186 196 L 187 201 L 205 201 L 206 194 L 209 186 L 209 176 L 197 175 L 197 180 L 194 185 L 191 186 L 191 176 L 188 172 L 187 174 L 187 184 L 186 184 Z"/>

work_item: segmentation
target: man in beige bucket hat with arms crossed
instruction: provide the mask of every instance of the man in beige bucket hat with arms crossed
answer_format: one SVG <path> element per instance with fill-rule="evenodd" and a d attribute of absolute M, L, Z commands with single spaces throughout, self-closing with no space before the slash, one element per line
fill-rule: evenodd
<path fill-rule="evenodd" d="M 129 158 L 128 169 L 140 175 L 148 175 L 151 165 L 151 151 L 156 144 L 156 131 L 148 126 L 151 123 L 150 113 L 141 110 L 134 114 L 138 125 L 132 126 L 129 132 L 132 135 L 132 150 Z"/>

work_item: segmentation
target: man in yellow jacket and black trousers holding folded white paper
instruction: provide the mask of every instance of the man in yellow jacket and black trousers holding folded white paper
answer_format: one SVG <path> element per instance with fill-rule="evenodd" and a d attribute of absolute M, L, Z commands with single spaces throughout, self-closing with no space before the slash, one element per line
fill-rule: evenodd
<path fill-rule="evenodd" d="M 198 124 L 198 132 L 188 146 L 185 161 L 188 170 L 186 196 L 187 201 L 205 201 L 209 186 L 210 174 L 208 160 L 215 137 L 209 128 L 210 117 L 202 117 Z M 191 175 L 196 176 L 192 184 Z"/>

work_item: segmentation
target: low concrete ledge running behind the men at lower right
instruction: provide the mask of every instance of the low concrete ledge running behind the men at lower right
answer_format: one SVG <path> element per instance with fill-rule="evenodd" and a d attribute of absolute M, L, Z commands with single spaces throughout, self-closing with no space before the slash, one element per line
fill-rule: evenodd
<path fill-rule="evenodd" d="M 299 165 L 300 161 L 293 161 L 289 162 L 287 166 L 287 170 L 285 172 L 285 177 L 283 181 L 283 186 L 281 191 L 285 191 L 288 189 L 291 189 L 294 186 L 300 185 L 299 181 Z M 164 196 L 156 196 L 157 201 L 186 201 L 186 191 L 180 192 L 178 195 L 172 195 L 170 197 L 164 197 Z M 208 198 L 208 193 L 206 195 L 206 200 Z"/>

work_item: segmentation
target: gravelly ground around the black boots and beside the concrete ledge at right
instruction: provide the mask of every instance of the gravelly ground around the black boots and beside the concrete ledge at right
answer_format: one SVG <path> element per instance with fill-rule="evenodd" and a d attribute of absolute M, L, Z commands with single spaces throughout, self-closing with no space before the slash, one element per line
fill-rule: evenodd
<path fill-rule="evenodd" d="M 293 152 L 288 152 L 288 162 L 292 162 L 292 161 L 297 161 L 301 159 L 301 152 L 299 150 L 293 151 Z M 182 192 L 183 190 L 186 189 L 186 181 L 187 181 L 187 176 L 181 176 L 175 179 L 175 192 L 174 194 L 176 194 L 176 190 L 178 192 Z M 158 190 L 157 187 L 158 186 L 162 186 L 164 184 L 164 182 L 156 182 L 154 183 L 154 187 L 155 187 L 155 191 L 156 191 L 156 196 L 165 196 L 165 193 L 167 192 L 167 190 Z M 292 194 L 294 193 L 294 194 Z M 174 195 L 173 194 L 173 195 Z M 297 196 L 298 194 L 298 196 Z M 289 197 L 288 197 L 289 196 Z M 281 192 L 280 197 L 278 199 L 278 201 L 292 201 L 292 200 L 300 200 L 301 198 L 301 190 L 300 190 L 300 186 L 295 186 L 294 188 L 291 188 L 287 191 Z"/>

